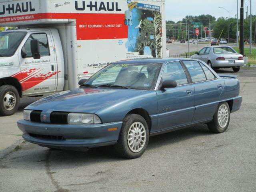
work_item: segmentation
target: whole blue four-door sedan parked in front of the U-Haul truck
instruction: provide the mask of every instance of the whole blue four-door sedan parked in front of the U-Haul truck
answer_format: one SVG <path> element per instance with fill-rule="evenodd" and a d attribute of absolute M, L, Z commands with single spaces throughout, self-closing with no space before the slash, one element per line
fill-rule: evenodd
<path fill-rule="evenodd" d="M 203 123 L 226 131 L 242 103 L 236 76 L 195 59 L 114 62 L 79 84 L 25 108 L 18 121 L 24 140 L 74 150 L 112 145 L 138 158 L 150 136 Z"/>

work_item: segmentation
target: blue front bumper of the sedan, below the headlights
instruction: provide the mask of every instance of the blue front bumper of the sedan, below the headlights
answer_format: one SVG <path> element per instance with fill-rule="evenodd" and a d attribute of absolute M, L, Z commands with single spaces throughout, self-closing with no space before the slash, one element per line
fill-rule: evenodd
<path fill-rule="evenodd" d="M 19 120 L 17 124 L 18 128 L 24 133 L 24 140 L 52 148 L 92 148 L 115 144 L 122 126 L 122 122 L 48 124 L 27 120 Z M 108 131 L 109 128 L 117 128 L 117 130 Z"/>

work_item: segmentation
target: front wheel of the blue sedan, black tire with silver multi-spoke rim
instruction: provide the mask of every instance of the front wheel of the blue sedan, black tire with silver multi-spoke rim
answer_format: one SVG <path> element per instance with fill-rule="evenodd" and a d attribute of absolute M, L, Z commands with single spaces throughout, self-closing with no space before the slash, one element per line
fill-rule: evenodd
<path fill-rule="evenodd" d="M 139 125 L 139 128 L 142 128 L 143 126 L 142 130 L 144 129 L 144 133 L 141 133 L 140 131 L 138 131 L 140 133 L 139 136 L 137 135 L 137 133 L 134 133 L 134 132 L 132 133 L 134 135 L 130 136 L 131 143 L 138 144 L 138 152 L 132 151 L 131 147 L 128 144 L 129 142 L 128 131 L 131 128 L 134 128 L 134 125 L 136 126 Z M 144 140 L 142 139 L 142 137 L 144 138 Z M 148 146 L 148 140 L 149 140 L 149 130 L 148 130 L 148 124 L 146 120 L 138 114 L 129 114 L 123 120 L 118 142 L 116 144 L 116 151 L 123 158 L 128 158 L 128 159 L 138 158 L 142 156 L 142 154 L 145 152 Z M 139 148 L 139 145 L 141 145 L 141 143 L 142 143 L 142 146 L 141 148 Z M 135 148 L 135 150 L 137 150 L 137 147 Z"/>

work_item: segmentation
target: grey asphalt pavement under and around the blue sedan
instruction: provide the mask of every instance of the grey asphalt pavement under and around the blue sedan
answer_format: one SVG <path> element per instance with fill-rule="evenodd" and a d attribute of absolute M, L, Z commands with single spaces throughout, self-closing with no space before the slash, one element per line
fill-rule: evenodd
<path fill-rule="evenodd" d="M 76 152 L 26 142 L 0 160 L 1 191 L 255 192 L 256 68 L 217 72 L 238 75 L 243 96 L 226 132 L 200 125 L 150 137 L 134 160 L 117 157 L 112 146 Z"/>

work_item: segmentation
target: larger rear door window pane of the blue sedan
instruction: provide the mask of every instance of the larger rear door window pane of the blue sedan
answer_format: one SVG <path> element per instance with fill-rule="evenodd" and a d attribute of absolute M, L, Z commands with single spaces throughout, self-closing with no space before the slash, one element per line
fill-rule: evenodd
<path fill-rule="evenodd" d="M 202 67 L 197 61 L 183 61 L 183 62 L 185 66 L 188 68 L 188 72 L 190 73 L 193 83 L 206 80 L 204 71 L 202 70 Z"/>

